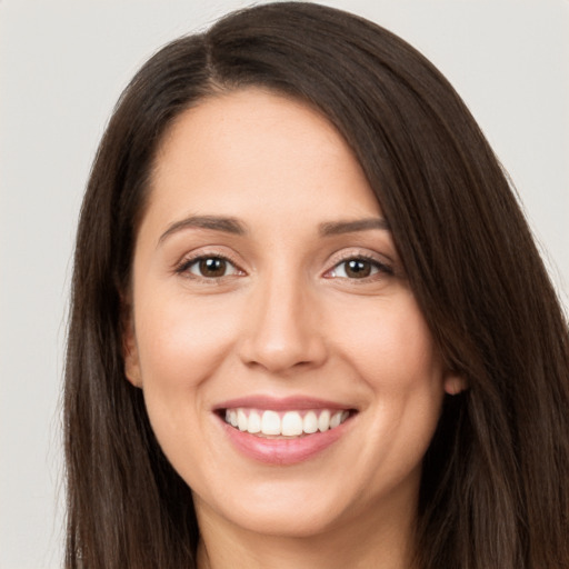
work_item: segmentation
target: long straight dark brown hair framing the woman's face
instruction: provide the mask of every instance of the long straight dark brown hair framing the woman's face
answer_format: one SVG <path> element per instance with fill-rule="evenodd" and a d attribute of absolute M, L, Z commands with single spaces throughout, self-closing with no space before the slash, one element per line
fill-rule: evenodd
<path fill-rule="evenodd" d="M 567 323 L 508 180 L 446 79 L 387 30 L 312 3 L 234 12 L 153 56 L 101 141 L 77 237 L 66 368 L 67 567 L 194 567 L 191 491 L 123 373 L 121 293 L 152 160 L 200 99 L 262 86 L 360 161 L 449 368 L 425 458 L 423 569 L 569 567 Z"/>

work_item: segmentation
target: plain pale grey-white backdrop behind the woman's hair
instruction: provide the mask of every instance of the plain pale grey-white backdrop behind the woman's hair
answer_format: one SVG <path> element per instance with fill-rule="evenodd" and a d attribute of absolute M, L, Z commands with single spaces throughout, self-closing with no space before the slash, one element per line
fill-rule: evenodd
<path fill-rule="evenodd" d="M 70 257 L 110 111 L 157 48 L 249 3 L 0 0 L 1 569 L 62 565 Z M 569 2 L 325 3 L 399 33 L 450 79 L 510 172 L 568 306 Z"/>

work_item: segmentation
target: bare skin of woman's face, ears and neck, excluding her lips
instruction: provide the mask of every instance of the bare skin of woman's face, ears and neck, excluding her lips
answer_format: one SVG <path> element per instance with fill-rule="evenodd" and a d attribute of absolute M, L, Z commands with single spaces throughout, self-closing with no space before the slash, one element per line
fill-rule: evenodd
<path fill-rule="evenodd" d="M 194 216 L 243 232 L 183 221 Z M 359 163 L 300 102 L 216 96 L 161 143 L 136 242 L 126 373 L 192 488 L 202 568 L 409 567 L 421 459 L 460 381 L 389 230 L 322 234 L 322 223 L 361 219 L 382 213 Z M 361 256 L 365 278 L 346 271 Z M 230 262 L 213 278 L 197 257 Z M 358 412 L 331 447 L 279 467 L 243 456 L 212 412 L 250 395 Z"/>

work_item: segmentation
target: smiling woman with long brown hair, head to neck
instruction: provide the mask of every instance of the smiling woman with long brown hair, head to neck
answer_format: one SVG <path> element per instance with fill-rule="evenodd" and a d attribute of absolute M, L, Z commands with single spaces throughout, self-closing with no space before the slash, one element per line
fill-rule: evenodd
<path fill-rule="evenodd" d="M 425 58 L 230 14 L 140 70 L 93 166 L 68 567 L 568 567 L 567 336 Z"/>

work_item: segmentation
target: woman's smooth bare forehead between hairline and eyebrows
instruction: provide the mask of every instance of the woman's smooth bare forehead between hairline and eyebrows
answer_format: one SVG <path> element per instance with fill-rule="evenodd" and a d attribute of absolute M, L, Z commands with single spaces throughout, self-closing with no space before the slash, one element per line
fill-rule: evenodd
<path fill-rule="evenodd" d="M 184 111 L 157 152 L 150 207 L 242 214 L 299 208 L 342 218 L 379 214 L 351 149 L 321 113 L 242 89 Z M 183 211 L 186 213 L 187 211 Z"/>

